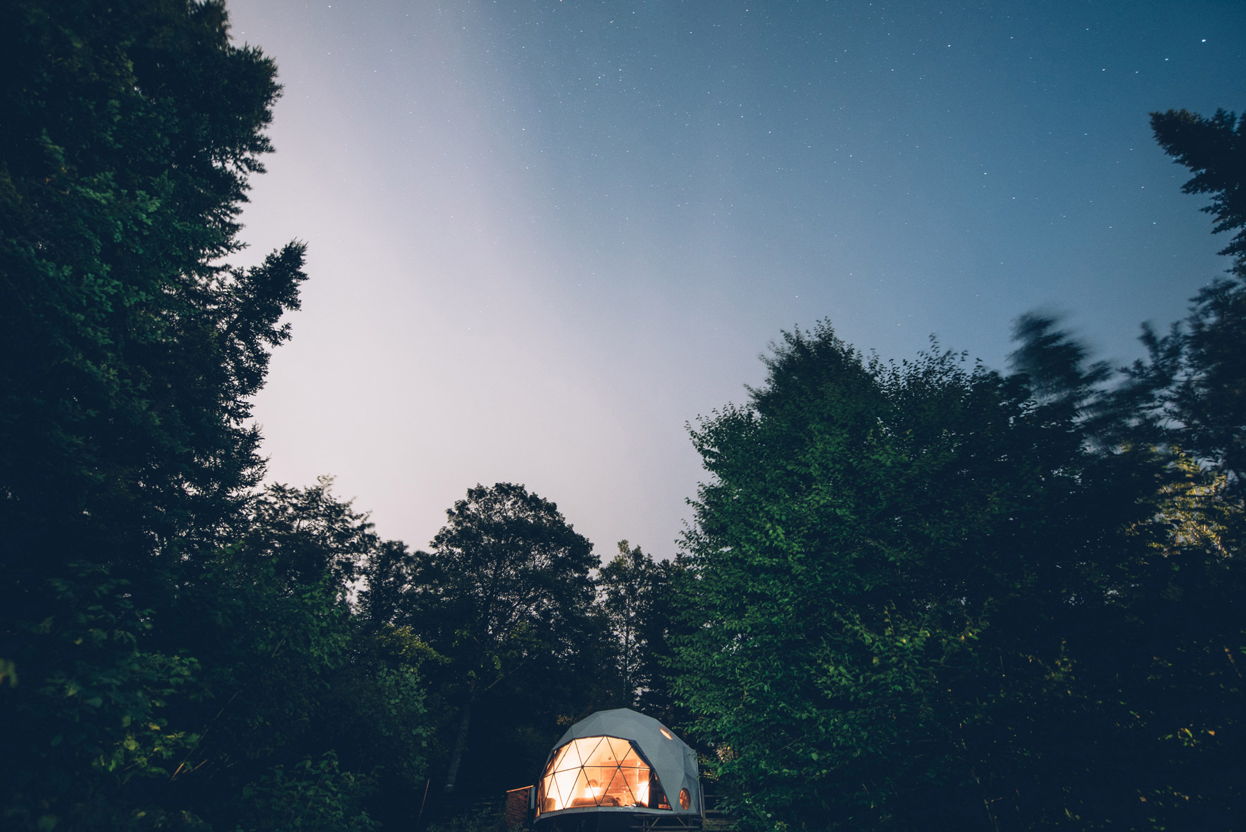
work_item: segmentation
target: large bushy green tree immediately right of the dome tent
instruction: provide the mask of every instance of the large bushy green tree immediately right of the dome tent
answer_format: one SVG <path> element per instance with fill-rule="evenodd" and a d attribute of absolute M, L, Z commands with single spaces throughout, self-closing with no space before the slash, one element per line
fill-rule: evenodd
<path fill-rule="evenodd" d="M 1121 800 L 1072 739 L 1105 730 L 1077 658 L 1123 614 L 1163 463 L 1093 453 L 1096 369 L 1039 321 L 1023 335 L 1032 372 L 1002 376 L 785 334 L 749 404 L 693 431 L 713 480 L 675 688 L 755 828 L 987 830 Z"/>

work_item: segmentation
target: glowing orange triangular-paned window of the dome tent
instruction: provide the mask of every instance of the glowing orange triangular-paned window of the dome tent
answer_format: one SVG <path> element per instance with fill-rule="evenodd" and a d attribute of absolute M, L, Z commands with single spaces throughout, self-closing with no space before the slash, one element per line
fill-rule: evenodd
<path fill-rule="evenodd" d="M 613 736 L 572 740 L 553 752 L 541 777 L 538 812 L 594 806 L 670 808 L 635 746 Z"/>

